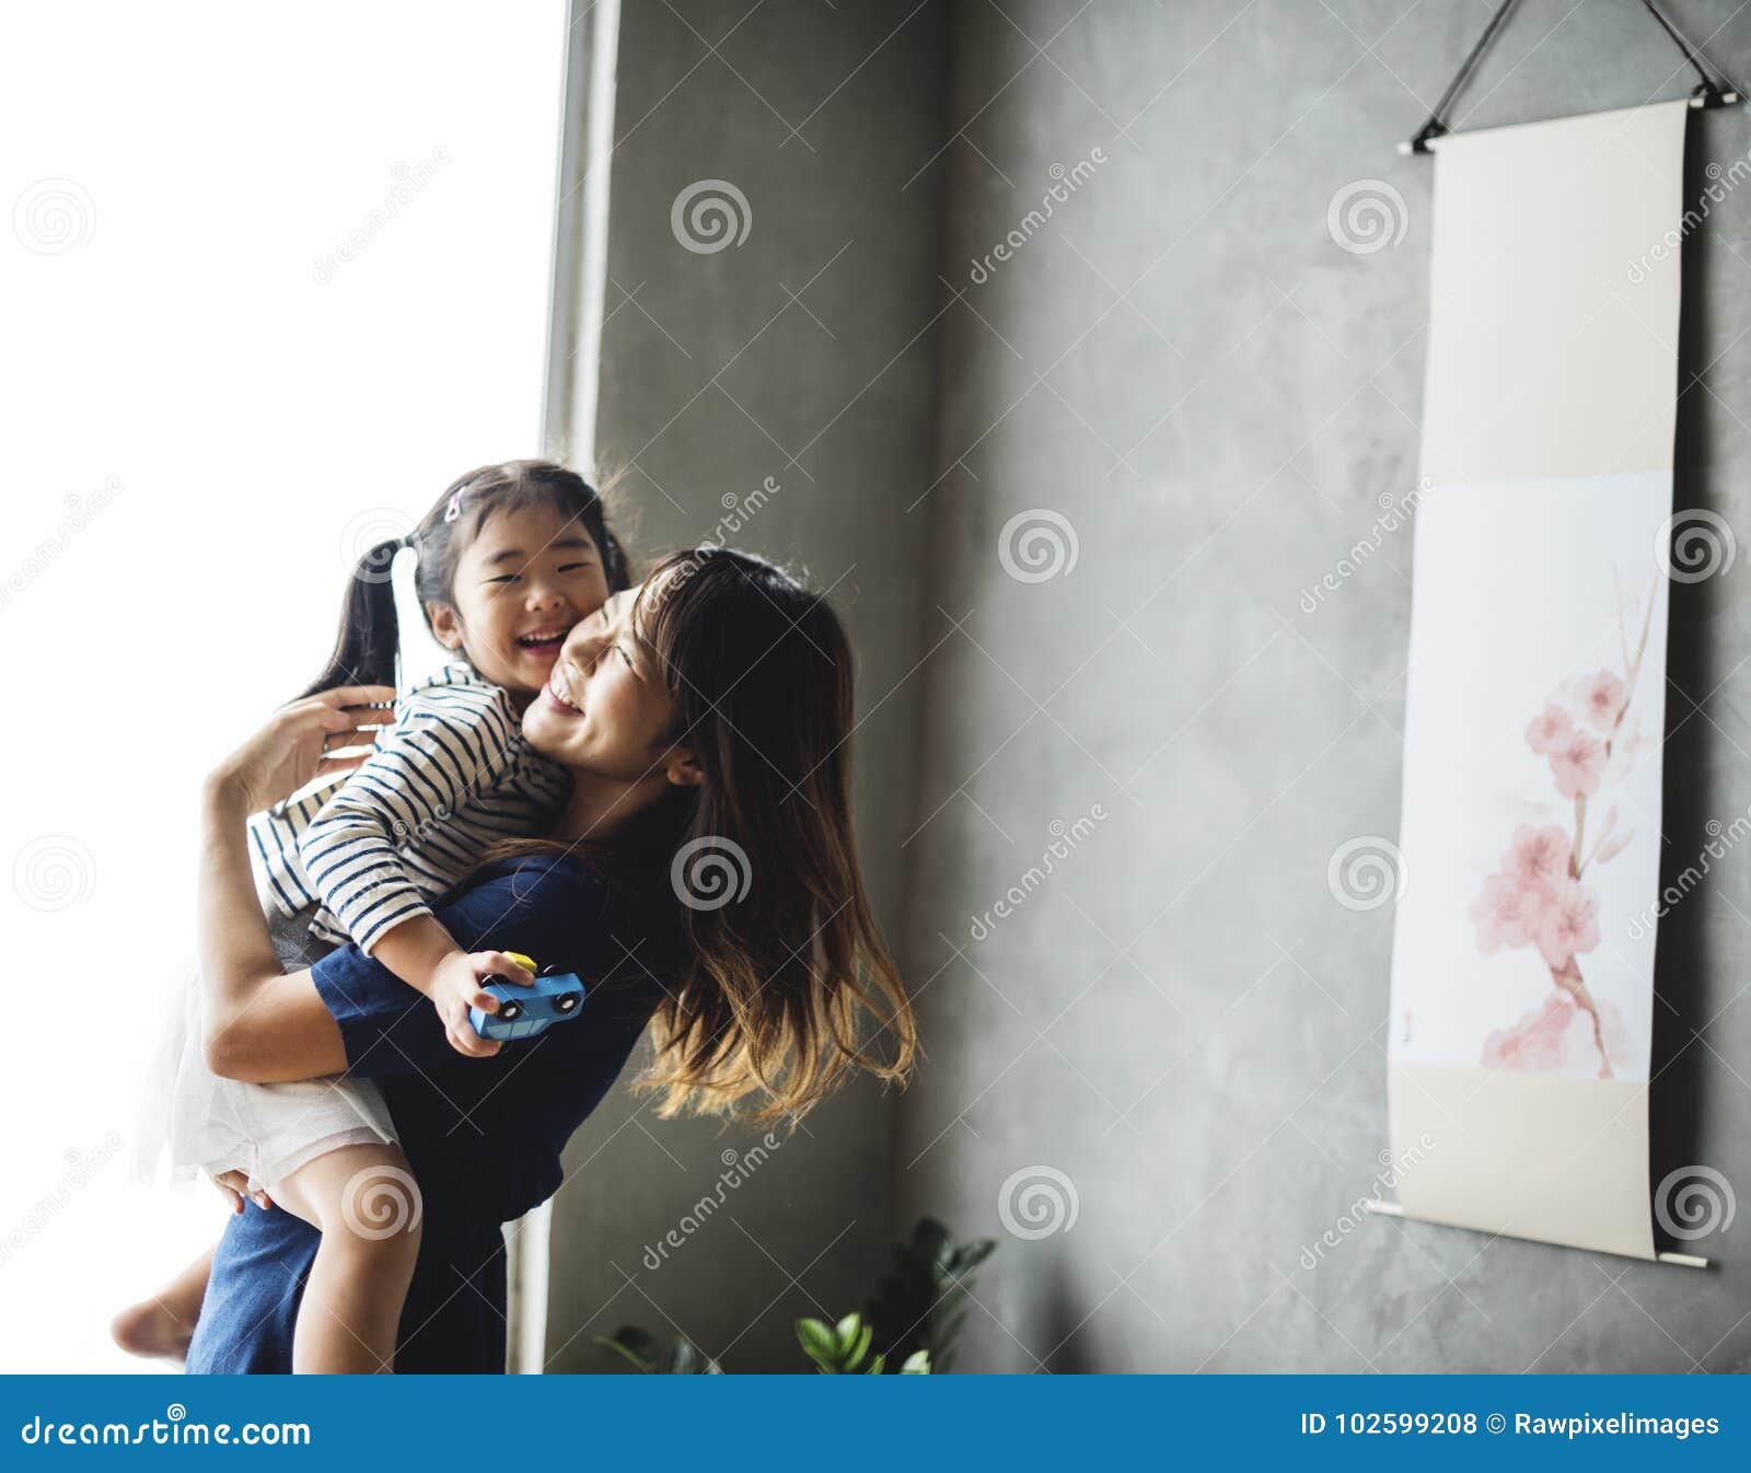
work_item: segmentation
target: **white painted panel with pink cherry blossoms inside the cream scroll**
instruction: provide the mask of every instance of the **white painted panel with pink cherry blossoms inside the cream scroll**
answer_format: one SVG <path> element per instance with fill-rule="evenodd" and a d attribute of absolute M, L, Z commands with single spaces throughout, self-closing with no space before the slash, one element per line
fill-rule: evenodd
<path fill-rule="evenodd" d="M 1394 1056 L 1648 1077 L 1667 587 L 1639 482 L 1418 513 L 1446 618 L 1410 674 L 1429 736 L 1406 757 Z"/>

